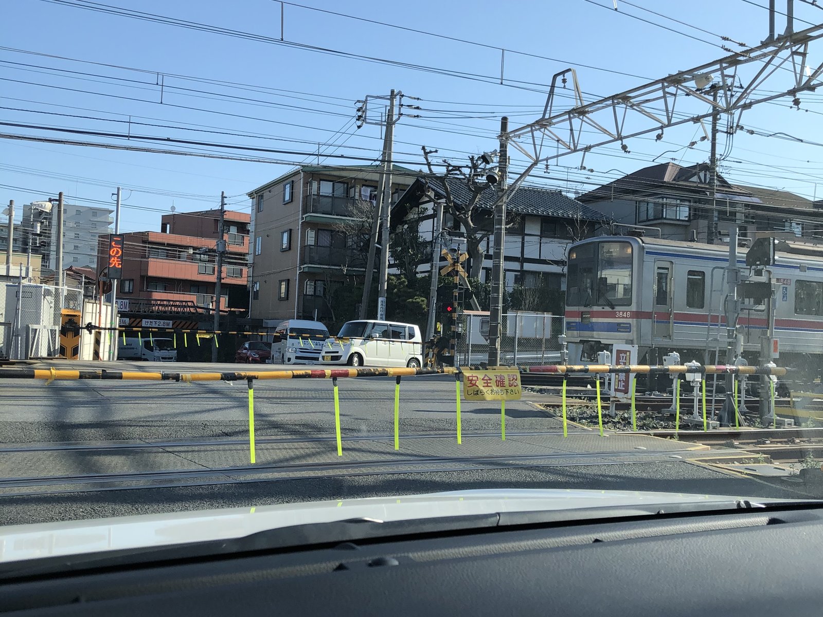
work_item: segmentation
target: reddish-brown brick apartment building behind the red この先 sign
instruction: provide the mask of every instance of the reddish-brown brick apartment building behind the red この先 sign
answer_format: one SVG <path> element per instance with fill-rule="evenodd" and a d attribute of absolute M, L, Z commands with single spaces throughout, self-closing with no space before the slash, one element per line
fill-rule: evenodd
<path fill-rule="evenodd" d="M 118 298 L 176 300 L 214 307 L 219 210 L 175 212 L 160 231 L 123 234 L 123 278 Z M 221 309 L 247 308 L 249 222 L 244 212 L 226 211 Z M 106 263 L 108 236 L 100 239 L 98 270 Z"/>

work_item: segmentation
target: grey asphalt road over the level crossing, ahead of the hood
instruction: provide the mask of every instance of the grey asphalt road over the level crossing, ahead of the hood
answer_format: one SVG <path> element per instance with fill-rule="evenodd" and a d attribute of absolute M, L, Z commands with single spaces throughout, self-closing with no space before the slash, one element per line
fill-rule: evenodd
<path fill-rule="evenodd" d="M 277 369 L 126 362 L 74 363 L 72 368 L 103 368 L 100 364 L 175 372 Z M 507 403 L 505 441 L 500 403 L 462 401 L 463 443 L 458 445 L 452 376 L 402 379 L 398 451 L 393 448 L 394 379 L 339 379 L 342 457 L 334 444 L 329 380 L 255 383 L 256 465 L 268 470 L 257 476 L 242 469 L 249 465 L 245 383 L 84 380 L 47 385 L 4 379 L 0 395 L 0 524 L 484 487 L 807 497 L 797 485 L 697 464 L 692 459 L 704 452 L 690 452 L 687 443 L 600 437 L 574 426 L 563 438 L 560 421 L 528 400 Z M 212 445 L 215 439 L 226 443 Z M 115 440 L 151 448 L 76 450 L 78 442 L 94 446 Z M 181 440 L 198 443 L 176 448 Z M 38 445 L 69 449 L 26 451 Z M 179 485 L 117 480 L 78 486 L 51 479 L 164 470 L 215 472 L 220 482 L 208 476 Z M 3 482 L 21 478 L 41 485 L 26 489 L 29 494 L 3 488 Z M 67 490 L 72 492 L 62 492 Z"/>

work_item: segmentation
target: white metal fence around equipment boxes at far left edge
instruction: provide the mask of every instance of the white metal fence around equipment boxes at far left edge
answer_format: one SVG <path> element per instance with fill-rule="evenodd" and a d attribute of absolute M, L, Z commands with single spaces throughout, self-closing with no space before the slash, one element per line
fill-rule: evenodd
<path fill-rule="evenodd" d="M 0 283 L 0 355 L 15 360 L 56 357 L 63 308 L 82 311 L 82 290 Z"/>

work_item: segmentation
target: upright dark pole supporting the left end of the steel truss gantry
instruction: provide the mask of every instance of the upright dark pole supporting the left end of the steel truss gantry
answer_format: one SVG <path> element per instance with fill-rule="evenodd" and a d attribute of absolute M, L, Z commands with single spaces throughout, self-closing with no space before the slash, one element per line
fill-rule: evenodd
<path fill-rule="evenodd" d="M 506 241 L 506 188 L 509 183 L 509 118 L 500 118 L 500 158 L 498 163 L 500 180 L 497 184 L 497 204 L 495 205 L 495 247 L 491 260 L 491 306 L 489 307 L 489 366 L 500 364 L 500 322 L 503 321 L 503 269 L 504 243 Z"/>

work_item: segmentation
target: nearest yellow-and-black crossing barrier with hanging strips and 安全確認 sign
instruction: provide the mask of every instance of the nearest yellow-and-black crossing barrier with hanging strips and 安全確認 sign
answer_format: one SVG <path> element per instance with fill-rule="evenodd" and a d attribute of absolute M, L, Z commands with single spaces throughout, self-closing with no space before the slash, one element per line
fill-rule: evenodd
<path fill-rule="evenodd" d="M 493 387 L 492 383 L 495 381 L 496 373 L 506 373 L 506 386 Z M 772 365 L 766 366 L 734 366 L 734 365 L 707 365 L 695 366 L 690 364 L 685 365 L 671 365 L 671 366 L 648 366 L 648 365 L 629 365 L 629 366 L 611 366 L 607 364 L 590 364 L 590 365 L 549 365 L 549 366 L 528 366 L 528 367 L 491 367 L 489 369 L 459 369 L 452 367 L 442 367 L 439 369 L 427 368 L 359 368 L 359 369 L 290 369 L 290 370 L 263 370 L 263 371 L 240 371 L 240 372 L 204 372 L 204 373 L 177 373 L 172 371 L 150 372 L 150 371 L 118 371 L 108 369 L 55 369 L 49 367 L 48 369 L 0 369 L 0 382 L 2 379 L 42 379 L 48 385 L 53 381 L 75 381 L 75 380 L 122 380 L 122 381 L 163 381 L 174 383 L 198 383 L 198 382 L 236 382 L 245 381 L 249 389 L 249 460 L 252 464 L 256 462 L 255 457 L 255 443 L 254 443 L 254 382 L 277 379 L 331 379 L 332 391 L 334 401 L 334 424 L 335 437 L 337 441 L 337 456 L 342 456 L 342 431 L 340 420 L 340 397 L 338 391 L 338 378 L 395 378 L 394 390 L 394 449 L 400 448 L 400 433 L 399 433 L 399 404 L 400 404 L 400 383 L 402 377 L 414 377 L 418 375 L 448 375 L 453 374 L 455 383 L 455 420 L 456 420 L 456 437 L 458 445 L 463 443 L 463 428 L 461 420 L 461 392 L 460 383 L 463 376 L 463 396 L 474 399 L 481 398 L 483 400 L 500 401 L 500 437 L 505 440 L 505 401 L 518 399 L 520 397 L 520 373 L 560 373 L 564 375 L 562 385 L 562 422 L 563 422 L 563 437 L 568 437 L 568 420 L 566 418 L 567 398 L 566 398 L 566 379 L 565 375 L 575 373 L 589 373 L 589 374 L 607 374 L 607 373 L 692 373 L 698 375 L 716 374 L 716 373 L 735 373 L 742 374 L 756 374 L 756 375 L 770 375 L 780 376 L 785 375 L 787 369 Z M 471 396 L 467 389 L 467 384 L 472 385 L 472 375 L 481 373 L 483 375 L 483 385 L 488 379 L 489 383 L 486 387 L 490 389 L 485 393 L 485 396 L 477 397 L 477 388 L 472 391 Z M 510 381 L 514 380 L 514 381 Z M 632 429 L 637 430 L 637 411 L 635 406 L 635 391 L 637 387 L 637 379 L 633 378 L 631 383 L 631 418 Z M 704 379 L 701 378 L 704 383 Z M 513 387 L 516 383 L 516 387 Z M 603 420 L 602 420 L 602 397 L 600 390 L 600 382 L 597 380 L 597 424 L 600 436 L 604 435 Z M 678 379 L 676 382 L 677 391 L 679 392 Z M 735 380 L 737 383 L 737 380 Z M 771 397 L 774 409 L 774 381 L 770 380 Z M 478 385 L 477 381 L 474 382 Z M 507 396 L 507 392 L 511 391 L 513 396 Z M 697 388 L 695 387 L 695 397 Z M 705 392 L 705 390 L 703 390 Z M 481 389 L 481 394 L 482 394 Z M 516 396 L 514 396 L 516 394 Z M 676 397 L 676 431 L 680 430 L 680 397 Z M 705 411 L 705 393 L 703 397 L 703 425 L 704 430 L 707 430 L 709 424 L 706 422 Z M 735 397 L 737 405 L 737 397 Z M 696 412 L 696 402 L 695 402 Z"/>

